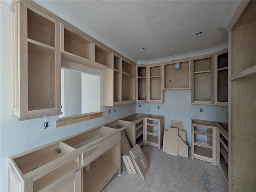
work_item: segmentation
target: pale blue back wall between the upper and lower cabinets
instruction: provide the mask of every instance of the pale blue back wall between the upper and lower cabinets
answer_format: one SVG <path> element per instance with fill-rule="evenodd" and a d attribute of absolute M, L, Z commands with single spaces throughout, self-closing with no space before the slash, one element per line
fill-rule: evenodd
<path fill-rule="evenodd" d="M 200 108 L 203 112 L 199 112 Z M 136 104 L 137 113 L 164 115 L 165 130 L 171 120 L 182 121 L 188 146 L 191 146 L 191 119 L 227 122 L 227 111 L 228 107 L 191 104 L 191 90 L 165 90 L 164 103 Z"/>

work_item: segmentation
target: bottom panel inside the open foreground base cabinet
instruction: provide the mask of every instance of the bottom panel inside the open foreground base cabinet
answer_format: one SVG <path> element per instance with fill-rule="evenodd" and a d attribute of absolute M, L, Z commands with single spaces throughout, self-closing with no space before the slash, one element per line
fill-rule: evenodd
<path fill-rule="evenodd" d="M 83 171 L 84 192 L 96 192 L 102 190 L 118 170 L 118 165 L 99 157 L 96 159 L 95 167 L 91 167 L 88 172 Z"/>

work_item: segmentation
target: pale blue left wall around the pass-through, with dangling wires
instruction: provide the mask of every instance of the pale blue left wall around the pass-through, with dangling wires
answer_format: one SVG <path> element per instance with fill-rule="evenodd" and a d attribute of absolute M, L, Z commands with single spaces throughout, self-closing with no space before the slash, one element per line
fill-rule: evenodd
<path fill-rule="evenodd" d="M 136 104 L 104 107 L 100 106 L 103 117 L 76 123 L 60 128 L 55 128 L 58 116 L 48 117 L 50 127 L 42 131 L 44 118 L 18 121 L 12 117 L 12 14 L 10 7 L 0 2 L 1 9 L 1 51 L 0 51 L 0 191 L 8 191 L 8 157 L 37 146 L 47 144 L 109 121 L 114 121 L 124 116 L 136 113 Z M 74 63 L 62 61 L 68 65 Z M 78 64 L 79 65 L 79 64 Z M 82 65 L 79 67 L 91 73 L 93 68 Z M 79 68 L 78 67 L 78 68 Z M 103 103 L 103 72 L 100 71 L 101 79 L 101 103 Z M 130 109 L 128 109 L 130 106 Z M 116 113 L 114 113 L 116 109 Z M 109 110 L 111 113 L 109 114 Z M 40 135 L 38 135 L 42 131 Z"/>

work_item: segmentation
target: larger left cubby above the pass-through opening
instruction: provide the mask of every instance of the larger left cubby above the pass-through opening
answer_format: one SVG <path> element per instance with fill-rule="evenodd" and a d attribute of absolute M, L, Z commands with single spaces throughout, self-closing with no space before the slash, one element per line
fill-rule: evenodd
<path fill-rule="evenodd" d="M 64 51 L 92 60 L 92 43 L 66 28 L 64 28 Z"/>

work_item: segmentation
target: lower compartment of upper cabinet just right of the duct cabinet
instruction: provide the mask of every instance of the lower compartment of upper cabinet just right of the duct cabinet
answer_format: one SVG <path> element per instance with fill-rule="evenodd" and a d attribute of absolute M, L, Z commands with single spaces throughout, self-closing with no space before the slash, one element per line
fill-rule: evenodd
<path fill-rule="evenodd" d="M 194 73 L 194 101 L 211 101 L 212 73 Z"/>

